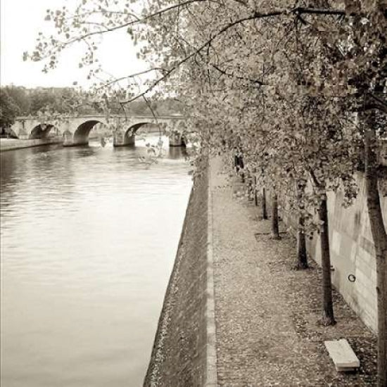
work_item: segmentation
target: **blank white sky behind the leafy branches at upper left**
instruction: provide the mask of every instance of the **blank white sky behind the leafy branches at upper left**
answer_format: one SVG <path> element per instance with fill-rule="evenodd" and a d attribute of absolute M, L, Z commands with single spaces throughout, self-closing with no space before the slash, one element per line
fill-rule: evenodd
<path fill-rule="evenodd" d="M 34 49 L 38 32 L 50 31 L 51 23 L 43 20 L 46 9 L 74 2 L 77 0 L 0 0 L 1 86 L 12 83 L 25 87 L 65 87 L 75 81 L 87 85 L 87 71 L 78 68 L 80 48 L 64 53 L 58 68 L 48 74 L 42 72 L 43 63 L 23 62 L 23 51 Z M 115 32 L 103 40 L 98 58 L 105 70 L 122 77 L 148 68 L 136 58 L 135 52 L 127 34 Z"/>

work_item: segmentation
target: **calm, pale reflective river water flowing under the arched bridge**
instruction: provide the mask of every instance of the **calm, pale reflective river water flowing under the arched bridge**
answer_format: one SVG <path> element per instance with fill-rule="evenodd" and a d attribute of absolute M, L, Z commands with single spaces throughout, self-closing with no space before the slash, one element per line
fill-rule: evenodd
<path fill-rule="evenodd" d="M 165 152 L 1 153 L 2 387 L 142 385 L 191 189 Z"/>

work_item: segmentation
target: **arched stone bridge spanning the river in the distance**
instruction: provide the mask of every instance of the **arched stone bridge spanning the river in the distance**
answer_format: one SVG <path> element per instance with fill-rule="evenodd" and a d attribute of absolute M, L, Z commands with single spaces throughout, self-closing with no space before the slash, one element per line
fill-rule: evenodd
<path fill-rule="evenodd" d="M 89 144 L 89 133 L 96 125 L 111 131 L 113 146 L 134 145 L 137 131 L 146 124 L 158 124 L 170 137 L 170 146 L 184 146 L 186 139 L 185 119 L 182 115 L 111 116 L 79 115 L 63 117 L 60 120 L 43 120 L 36 117 L 18 117 L 11 127 L 13 137 L 18 139 L 47 139 L 53 135 L 63 137 L 63 146 Z"/>

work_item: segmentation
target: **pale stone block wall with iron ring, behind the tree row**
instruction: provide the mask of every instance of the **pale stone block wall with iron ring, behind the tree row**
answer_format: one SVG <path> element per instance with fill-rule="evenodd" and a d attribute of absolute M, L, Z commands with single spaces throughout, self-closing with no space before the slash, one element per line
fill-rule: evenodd
<path fill-rule="evenodd" d="M 349 208 L 344 208 L 343 193 L 328 195 L 329 242 L 331 246 L 332 281 L 350 307 L 369 328 L 376 331 L 376 260 L 371 226 L 367 212 L 364 177 L 357 175 L 359 194 Z M 387 196 L 381 195 L 384 223 L 387 225 Z M 296 230 L 296 218 L 283 214 L 286 224 Z M 317 263 L 321 262 L 319 236 L 307 241 L 307 249 Z"/>

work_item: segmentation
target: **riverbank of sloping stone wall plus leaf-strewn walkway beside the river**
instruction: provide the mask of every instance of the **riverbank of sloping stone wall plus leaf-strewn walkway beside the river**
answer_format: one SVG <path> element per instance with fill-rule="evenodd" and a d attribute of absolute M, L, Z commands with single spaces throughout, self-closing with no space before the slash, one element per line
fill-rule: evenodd
<path fill-rule="evenodd" d="M 191 194 L 144 386 L 374 386 L 376 335 L 336 291 L 337 324 L 319 325 L 319 267 L 293 269 L 293 237 L 269 239 L 269 221 L 238 198 L 241 182 L 229 182 L 219 158 L 208 175 Z M 206 313 L 212 260 L 216 357 Z M 348 339 L 358 372 L 336 372 L 324 348 L 336 338 Z"/>

